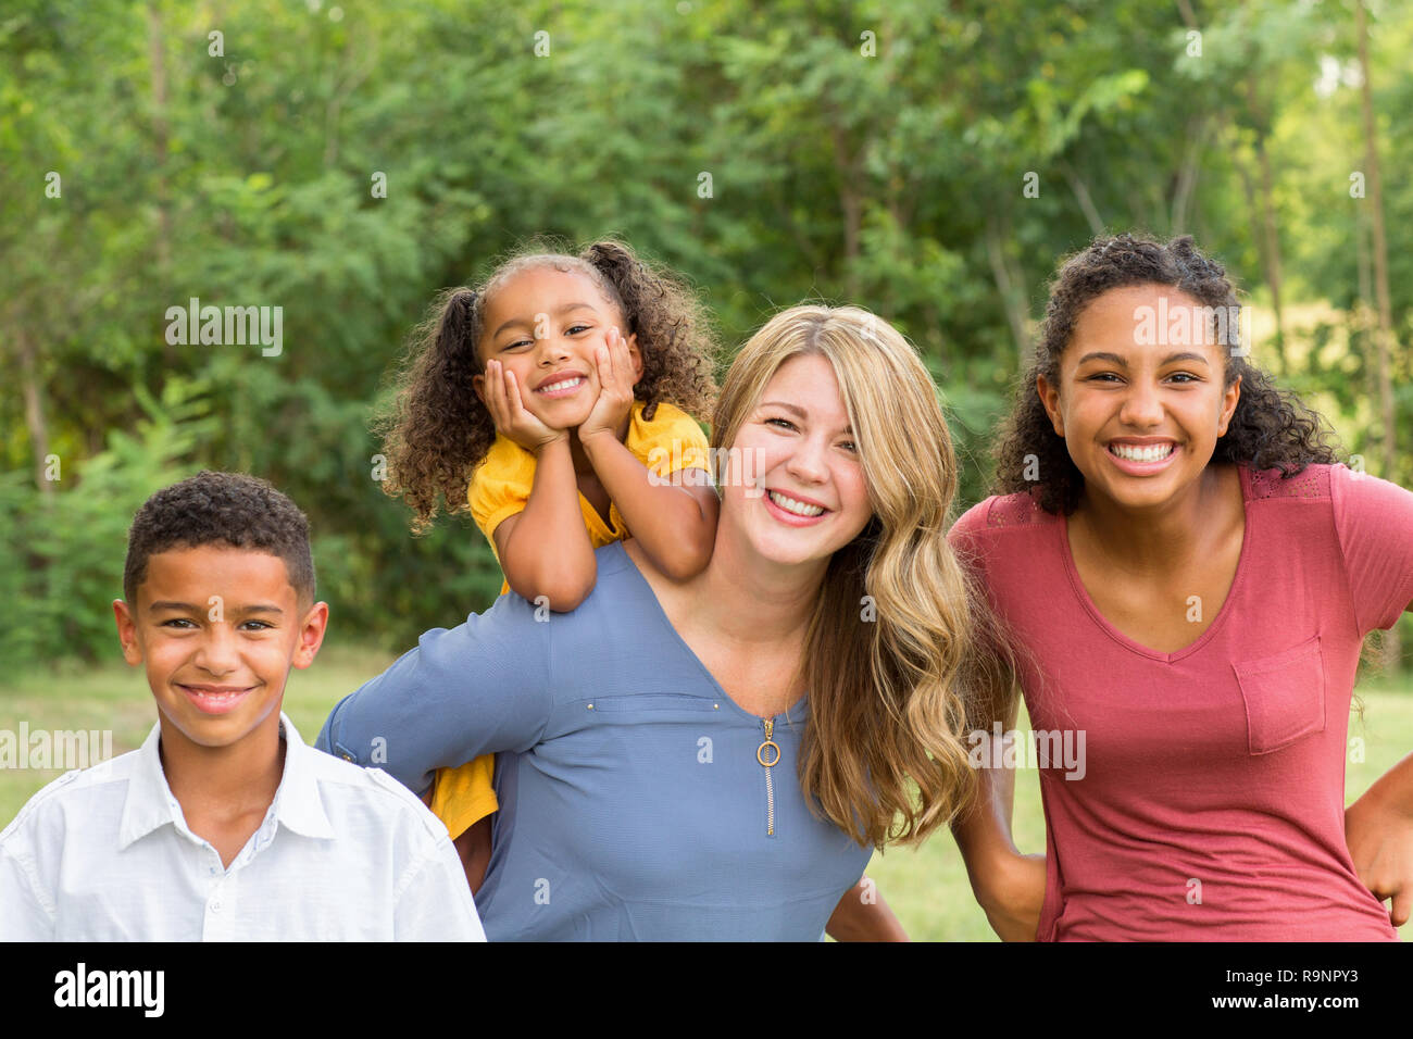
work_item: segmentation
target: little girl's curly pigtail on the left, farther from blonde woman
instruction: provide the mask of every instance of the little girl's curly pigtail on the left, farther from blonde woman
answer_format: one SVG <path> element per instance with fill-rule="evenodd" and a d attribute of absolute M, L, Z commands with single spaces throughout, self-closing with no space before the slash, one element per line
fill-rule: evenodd
<path fill-rule="evenodd" d="M 417 513 L 422 532 L 447 510 L 465 507 L 471 471 L 490 450 L 496 428 L 472 389 L 480 373 L 480 295 L 472 288 L 442 293 L 413 334 L 391 414 L 379 421 L 387 481 L 383 489 Z"/>

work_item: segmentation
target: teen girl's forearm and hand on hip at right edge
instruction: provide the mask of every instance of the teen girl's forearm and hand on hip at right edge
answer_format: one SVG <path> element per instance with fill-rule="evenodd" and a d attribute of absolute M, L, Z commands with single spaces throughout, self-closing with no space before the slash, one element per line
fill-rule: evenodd
<path fill-rule="evenodd" d="M 1413 909 L 1413 753 L 1345 809 L 1344 838 L 1359 881 L 1381 902 L 1393 899 L 1389 919 L 1402 927 Z"/>

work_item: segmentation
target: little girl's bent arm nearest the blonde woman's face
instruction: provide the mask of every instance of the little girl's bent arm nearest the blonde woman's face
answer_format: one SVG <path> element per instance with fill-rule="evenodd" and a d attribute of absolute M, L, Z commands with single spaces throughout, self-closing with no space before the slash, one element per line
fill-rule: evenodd
<path fill-rule="evenodd" d="M 632 359 L 623 336 L 598 351 L 599 400 L 579 427 L 579 444 L 653 564 L 675 581 L 695 577 L 711 560 L 719 500 L 705 469 L 682 469 L 690 486 L 658 483 L 617 438 L 633 406 Z"/>

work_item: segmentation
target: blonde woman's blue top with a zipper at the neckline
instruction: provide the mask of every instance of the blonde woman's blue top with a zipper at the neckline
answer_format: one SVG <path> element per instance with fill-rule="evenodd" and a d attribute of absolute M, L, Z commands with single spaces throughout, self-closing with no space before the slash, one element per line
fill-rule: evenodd
<path fill-rule="evenodd" d="M 495 752 L 492 941 L 815 941 L 872 848 L 811 814 L 805 701 L 740 710 L 615 541 L 571 614 L 509 592 L 421 636 L 339 703 L 318 746 L 415 792 Z M 757 756 L 759 752 L 759 756 Z M 771 768 L 762 765 L 773 762 Z"/>

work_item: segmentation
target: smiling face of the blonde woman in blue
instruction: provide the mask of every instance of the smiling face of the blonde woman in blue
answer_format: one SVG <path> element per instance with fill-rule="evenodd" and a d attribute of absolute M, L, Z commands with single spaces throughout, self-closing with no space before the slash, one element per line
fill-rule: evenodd
<path fill-rule="evenodd" d="M 786 360 L 728 454 L 722 523 L 773 563 L 825 560 L 873 515 L 834 368 Z"/>

